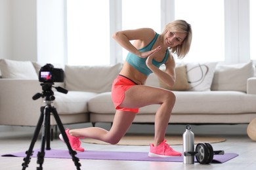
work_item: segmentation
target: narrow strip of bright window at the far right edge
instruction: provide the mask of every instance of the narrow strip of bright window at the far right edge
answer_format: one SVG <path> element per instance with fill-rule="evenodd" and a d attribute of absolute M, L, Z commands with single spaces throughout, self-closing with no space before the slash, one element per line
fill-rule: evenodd
<path fill-rule="evenodd" d="M 255 44 L 256 44 L 256 1 L 251 0 L 250 1 L 250 50 L 251 50 L 251 59 L 256 59 L 256 49 L 255 49 Z"/>

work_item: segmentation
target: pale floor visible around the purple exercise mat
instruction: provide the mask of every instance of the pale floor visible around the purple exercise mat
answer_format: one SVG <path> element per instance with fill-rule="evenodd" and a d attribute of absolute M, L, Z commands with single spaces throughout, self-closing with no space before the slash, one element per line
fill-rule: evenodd
<path fill-rule="evenodd" d="M 143 126 L 143 125 L 140 125 Z M 33 131 L 24 131 L 22 127 L 15 130 L 0 130 L 0 154 L 10 154 L 28 150 L 32 139 Z M 182 135 L 182 134 L 181 134 Z M 215 134 L 216 135 L 216 134 Z M 211 135 L 213 136 L 213 135 Z M 224 150 L 234 152 L 238 157 L 221 164 L 201 165 L 195 163 L 184 165 L 182 162 L 154 162 L 154 161 L 110 161 L 110 160 L 80 160 L 81 169 L 256 169 L 256 142 L 251 141 L 246 134 L 239 135 L 218 135 L 225 137 L 223 143 L 213 143 L 214 150 Z M 41 140 L 35 143 L 34 148 L 40 148 Z M 135 151 L 148 152 L 149 146 L 119 146 L 102 144 L 85 144 L 87 150 L 106 150 L 106 151 Z M 182 152 L 182 145 L 172 146 L 175 150 Z M 66 149 L 62 141 L 56 139 L 51 141 L 51 148 Z M 0 157 L 1 169 L 22 169 L 24 158 Z M 26 169 L 36 169 L 38 167 L 37 158 L 32 158 Z M 71 159 L 51 159 L 45 158 L 43 169 L 76 169 Z"/>

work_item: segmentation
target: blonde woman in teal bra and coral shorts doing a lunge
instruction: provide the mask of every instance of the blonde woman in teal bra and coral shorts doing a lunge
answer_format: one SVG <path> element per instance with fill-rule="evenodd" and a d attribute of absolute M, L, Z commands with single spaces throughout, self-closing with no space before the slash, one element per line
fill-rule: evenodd
<path fill-rule="evenodd" d="M 110 131 L 99 127 L 66 129 L 70 144 L 76 151 L 83 152 L 79 138 L 91 138 L 117 144 L 131 126 L 140 107 L 158 104 L 156 112 L 154 143 L 150 144 L 151 157 L 181 156 L 165 141 L 175 95 L 169 90 L 145 86 L 150 73 L 156 74 L 168 86 L 175 84 L 175 59 L 184 58 L 190 49 L 192 29 L 184 20 L 175 20 L 165 26 L 161 35 L 150 28 L 118 31 L 113 38 L 129 51 L 121 72 L 112 85 L 112 100 L 116 114 Z M 134 41 L 131 44 L 130 41 Z M 170 52 L 169 52 L 170 50 Z M 159 69 L 165 64 L 165 71 Z M 63 140 L 62 135 L 60 139 Z"/>

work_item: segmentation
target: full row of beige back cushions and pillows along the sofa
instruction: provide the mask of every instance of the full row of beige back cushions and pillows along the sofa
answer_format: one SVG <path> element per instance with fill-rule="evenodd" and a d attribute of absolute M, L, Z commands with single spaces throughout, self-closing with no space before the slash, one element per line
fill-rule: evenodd
<path fill-rule="evenodd" d="M 175 69 L 177 73 L 176 86 L 168 88 L 154 74 L 148 77 L 146 85 L 180 91 L 229 90 L 246 92 L 247 78 L 256 76 L 253 61 L 234 65 L 215 63 L 177 63 Z M 123 66 L 121 63 L 106 66 L 53 65 L 56 68 L 64 69 L 65 74 L 64 82 L 56 83 L 55 86 L 62 86 L 71 91 L 95 93 L 110 92 L 112 82 Z M 2 78 L 38 80 L 38 71 L 42 66 L 43 64 L 32 61 L 0 59 Z M 162 69 L 165 68 L 162 67 Z M 193 88 L 192 86 L 195 84 L 191 82 L 198 82 L 198 80 L 200 80 L 200 86 L 196 84 L 196 88 Z"/>

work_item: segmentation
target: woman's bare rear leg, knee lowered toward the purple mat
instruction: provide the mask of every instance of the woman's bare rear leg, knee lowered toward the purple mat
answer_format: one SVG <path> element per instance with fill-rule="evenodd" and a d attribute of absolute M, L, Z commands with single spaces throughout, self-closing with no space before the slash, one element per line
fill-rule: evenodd
<path fill-rule="evenodd" d="M 87 127 L 82 129 L 72 129 L 70 130 L 70 135 L 74 137 L 97 139 L 110 144 L 117 144 L 123 135 L 125 135 L 127 129 L 131 126 L 135 116 L 136 114 L 134 112 L 117 110 L 110 131 L 100 127 Z"/>

